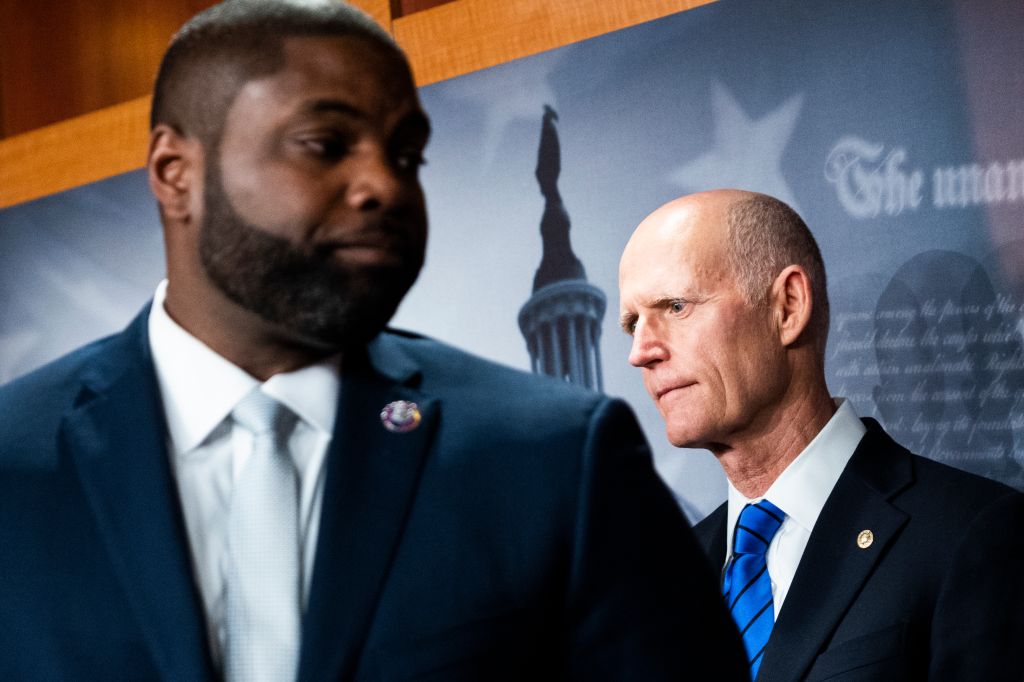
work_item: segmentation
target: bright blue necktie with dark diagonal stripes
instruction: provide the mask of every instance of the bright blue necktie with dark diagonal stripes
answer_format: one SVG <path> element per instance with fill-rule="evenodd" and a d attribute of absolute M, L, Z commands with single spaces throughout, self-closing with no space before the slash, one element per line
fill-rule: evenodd
<path fill-rule="evenodd" d="M 771 579 L 765 555 L 785 513 L 762 500 L 739 512 L 732 539 L 732 560 L 725 569 L 722 592 L 751 662 L 751 679 L 758 676 L 765 646 L 775 625 Z"/>

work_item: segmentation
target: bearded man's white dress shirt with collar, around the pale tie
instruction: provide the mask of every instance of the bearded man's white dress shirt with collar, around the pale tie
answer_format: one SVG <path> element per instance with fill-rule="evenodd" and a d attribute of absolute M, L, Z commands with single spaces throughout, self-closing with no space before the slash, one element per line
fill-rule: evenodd
<path fill-rule="evenodd" d="M 248 430 L 230 413 L 260 382 L 171 319 L 164 308 L 167 282 L 150 310 L 150 347 L 168 427 L 168 452 L 184 513 L 193 568 L 199 583 L 210 643 L 219 662 L 224 645 L 224 588 L 228 509 L 234 481 L 252 452 Z M 260 390 L 298 417 L 289 450 L 299 476 L 299 539 L 303 607 L 309 596 L 324 460 L 338 403 L 337 356 L 274 375 Z"/>

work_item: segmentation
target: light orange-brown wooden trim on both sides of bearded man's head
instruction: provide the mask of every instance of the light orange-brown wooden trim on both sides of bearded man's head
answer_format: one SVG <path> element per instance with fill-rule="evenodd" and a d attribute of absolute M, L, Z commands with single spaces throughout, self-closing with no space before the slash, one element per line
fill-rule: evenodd
<path fill-rule="evenodd" d="M 457 0 L 391 20 L 390 0 L 354 0 L 390 28 L 417 83 L 455 78 L 713 0 Z M 141 168 L 150 97 L 0 140 L 0 208 Z"/>

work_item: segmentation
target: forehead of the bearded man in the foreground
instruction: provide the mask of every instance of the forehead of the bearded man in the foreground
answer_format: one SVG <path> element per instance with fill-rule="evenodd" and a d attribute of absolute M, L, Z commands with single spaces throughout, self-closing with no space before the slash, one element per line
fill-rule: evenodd
<path fill-rule="evenodd" d="M 289 37 L 284 65 L 245 83 L 231 104 L 246 118 L 341 100 L 371 119 L 419 110 L 409 70 L 397 55 L 355 36 Z"/>

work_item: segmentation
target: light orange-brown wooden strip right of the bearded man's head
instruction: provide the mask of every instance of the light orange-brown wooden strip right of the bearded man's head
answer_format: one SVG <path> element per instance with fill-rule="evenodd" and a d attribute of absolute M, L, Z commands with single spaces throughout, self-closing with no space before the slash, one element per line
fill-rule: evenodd
<path fill-rule="evenodd" d="M 394 37 L 427 85 L 713 0 L 458 0 L 394 20 Z"/>

